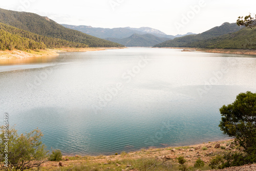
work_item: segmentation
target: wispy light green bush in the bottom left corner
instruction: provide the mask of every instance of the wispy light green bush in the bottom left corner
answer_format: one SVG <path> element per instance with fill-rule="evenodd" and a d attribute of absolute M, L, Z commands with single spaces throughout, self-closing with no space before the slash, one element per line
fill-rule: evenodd
<path fill-rule="evenodd" d="M 0 134 L 0 161 L 1 169 L 25 170 L 32 167 L 39 168 L 45 162 L 47 151 L 42 144 L 42 133 L 37 129 L 30 133 L 18 135 L 14 127 L 8 132 L 8 152 L 5 151 L 5 127 L 1 127 Z M 5 154 L 8 155 L 8 167 L 4 166 Z"/>

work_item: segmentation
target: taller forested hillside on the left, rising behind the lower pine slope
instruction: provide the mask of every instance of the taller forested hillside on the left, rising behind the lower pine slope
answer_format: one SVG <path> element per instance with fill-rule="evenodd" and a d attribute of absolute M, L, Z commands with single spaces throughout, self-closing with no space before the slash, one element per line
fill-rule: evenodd
<path fill-rule="evenodd" d="M 28 12 L 17 12 L 0 8 L 0 22 L 42 36 L 60 38 L 86 44 L 89 47 L 122 47 L 108 40 L 100 39 L 82 32 L 67 29 L 48 17 Z"/>

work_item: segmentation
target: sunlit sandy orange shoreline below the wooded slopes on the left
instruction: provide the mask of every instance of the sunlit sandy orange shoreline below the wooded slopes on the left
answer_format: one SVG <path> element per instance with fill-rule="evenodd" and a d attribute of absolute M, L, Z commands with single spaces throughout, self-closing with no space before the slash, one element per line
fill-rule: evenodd
<path fill-rule="evenodd" d="M 54 48 L 46 50 L 5 50 L 0 51 L 0 62 L 1 60 L 8 59 L 21 59 L 21 58 L 32 58 L 32 57 L 49 57 L 49 56 L 59 56 L 58 52 L 89 52 L 89 51 L 102 51 L 109 49 L 124 49 L 124 48 Z"/>

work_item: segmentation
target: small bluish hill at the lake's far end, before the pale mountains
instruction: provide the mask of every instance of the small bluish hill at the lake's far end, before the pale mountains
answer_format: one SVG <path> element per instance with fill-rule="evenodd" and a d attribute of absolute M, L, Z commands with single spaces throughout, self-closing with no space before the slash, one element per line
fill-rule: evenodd
<path fill-rule="evenodd" d="M 107 40 L 117 42 L 118 44 L 125 45 L 126 47 L 152 47 L 160 42 L 168 40 L 168 38 L 157 37 L 152 34 L 133 34 L 130 37 L 117 39 L 106 38 Z"/>

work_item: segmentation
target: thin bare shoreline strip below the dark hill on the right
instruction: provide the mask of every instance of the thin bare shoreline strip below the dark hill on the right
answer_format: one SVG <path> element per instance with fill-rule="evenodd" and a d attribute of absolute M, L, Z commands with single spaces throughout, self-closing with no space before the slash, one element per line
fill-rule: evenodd
<path fill-rule="evenodd" d="M 180 47 L 163 47 L 163 49 L 183 49 L 183 50 L 195 50 L 195 51 L 207 52 L 207 53 L 256 55 L 256 50 L 252 50 L 252 49 L 206 49 L 206 48 L 180 48 Z"/>

